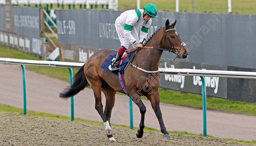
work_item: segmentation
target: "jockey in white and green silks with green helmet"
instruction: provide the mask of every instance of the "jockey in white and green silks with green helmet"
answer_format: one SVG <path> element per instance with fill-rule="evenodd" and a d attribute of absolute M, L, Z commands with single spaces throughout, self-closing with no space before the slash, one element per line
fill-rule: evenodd
<path fill-rule="evenodd" d="M 115 26 L 121 42 L 121 47 L 118 50 L 115 62 L 113 63 L 112 72 L 120 70 L 116 64 L 120 62 L 123 53 L 129 47 L 130 43 L 133 48 L 143 46 L 141 43 L 148 35 L 148 28 L 151 25 L 152 17 L 157 17 L 157 7 L 153 3 L 145 5 L 143 9 L 125 11 L 117 17 Z M 140 30 L 139 39 L 135 28 L 140 26 L 142 26 L 142 28 Z"/>

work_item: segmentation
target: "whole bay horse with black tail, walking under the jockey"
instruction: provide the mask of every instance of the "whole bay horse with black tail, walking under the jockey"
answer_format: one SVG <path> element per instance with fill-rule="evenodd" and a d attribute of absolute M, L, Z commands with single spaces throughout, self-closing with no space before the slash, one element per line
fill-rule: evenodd
<path fill-rule="evenodd" d="M 136 53 L 136 59 L 133 59 L 132 64 L 137 63 L 137 66 L 144 71 L 129 65 L 123 74 L 123 83 L 127 90 L 127 95 L 131 97 L 133 102 L 139 107 L 141 113 L 140 129 L 136 132 L 137 138 L 142 138 L 144 133 L 143 128 L 146 107 L 139 96 L 143 94 L 151 102 L 151 106 L 158 118 L 161 132 L 164 134 L 163 137 L 171 139 L 170 134 L 166 131 L 159 106 L 160 95 L 158 87 L 160 84 L 160 73 L 157 70 L 163 50 L 173 52 L 176 58 L 179 59 L 186 58 L 189 53 L 185 43 L 181 41 L 180 35 L 177 33 L 176 29 L 174 29 L 175 25 L 176 20 L 172 25 L 169 25 L 169 19 L 167 19 L 165 27 L 158 29 L 145 43 L 144 47 L 150 47 L 148 49 L 141 49 Z M 111 142 L 115 142 L 116 140 L 112 136 L 108 119 L 111 117 L 111 111 L 115 104 L 116 92 L 125 92 L 120 85 L 118 76 L 100 68 L 100 66 L 105 59 L 114 52 L 116 52 L 116 50 L 102 49 L 94 53 L 75 74 L 73 85 L 67 87 L 59 94 L 59 97 L 68 99 L 79 93 L 85 87 L 91 86 L 95 97 L 95 109 L 98 111 L 106 126 L 105 132 Z M 145 72 L 145 70 L 148 72 Z M 153 71 L 155 71 L 155 73 L 149 79 L 148 76 L 152 74 Z M 151 84 L 152 90 L 150 92 L 147 92 L 149 91 L 148 86 L 143 86 L 145 83 L 147 83 L 148 86 Z M 106 98 L 104 112 L 101 103 L 101 91 L 105 94 Z"/>

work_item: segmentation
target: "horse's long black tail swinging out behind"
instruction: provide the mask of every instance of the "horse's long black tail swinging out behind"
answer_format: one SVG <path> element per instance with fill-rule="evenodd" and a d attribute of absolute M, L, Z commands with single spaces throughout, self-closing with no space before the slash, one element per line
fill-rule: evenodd
<path fill-rule="evenodd" d="M 79 93 L 81 90 L 84 90 L 84 88 L 90 86 L 84 75 L 84 65 L 78 70 L 78 72 L 73 77 L 73 85 L 68 86 L 61 93 L 59 93 L 59 97 L 68 99 L 69 97 Z"/>

